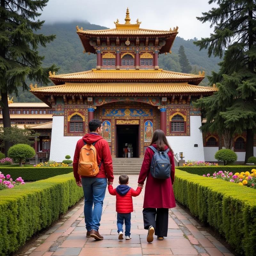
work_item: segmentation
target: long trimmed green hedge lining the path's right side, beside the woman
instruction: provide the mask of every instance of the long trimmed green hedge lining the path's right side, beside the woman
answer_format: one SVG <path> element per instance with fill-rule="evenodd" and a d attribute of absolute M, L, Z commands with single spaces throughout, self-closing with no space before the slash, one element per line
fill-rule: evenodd
<path fill-rule="evenodd" d="M 176 169 L 173 190 L 178 202 L 218 230 L 237 253 L 256 255 L 255 189 Z"/>

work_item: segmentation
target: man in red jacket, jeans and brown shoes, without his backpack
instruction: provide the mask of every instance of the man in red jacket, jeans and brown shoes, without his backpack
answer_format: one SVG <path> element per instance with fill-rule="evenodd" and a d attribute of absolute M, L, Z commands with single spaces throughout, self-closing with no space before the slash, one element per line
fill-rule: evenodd
<path fill-rule="evenodd" d="M 93 237 L 95 240 L 103 240 L 99 233 L 99 226 L 102 214 L 102 205 L 106 193 L 107 183 L 113 184 L 113 165 L 108 142 L 100 134 L 102 132 L 102 122 L 92 119 L 89 122 L 90 133 L 77 141 L 73 161 L 73 172 L 76 184 L 84 190 L 84 220 L 87 229 L 86 237 Z M 100 172 L 95 177 L 86 177 L 78 174 L 78 162 L 80 150 L 84 142 L 94 144 L 97 151 L 97 163 L 100 165 Z M 101 164 L 100 164 L 101 163 Z M 108 182 L 107 182 L 108 179 Z M 94 204 L 93 210 L 92 206 Z"/>

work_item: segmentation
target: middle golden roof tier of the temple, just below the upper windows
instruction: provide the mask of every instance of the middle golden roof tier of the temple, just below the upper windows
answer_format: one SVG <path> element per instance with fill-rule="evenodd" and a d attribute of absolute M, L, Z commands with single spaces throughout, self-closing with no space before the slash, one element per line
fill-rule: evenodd
<path fill-rule="evenodd" d="M 77 73 L 70 74 L 60 74 L 53 75 L 51 74 L 50 79 L 56 85 L 60 85 L 60 82 L 95 82 L 95 81 L 115 81 L 115 82 L 124 82 L 124 81 L 164 81 L 164 82 L 192 82 L 192 84 L 199 84 L 204 79 L 204 71 L 202 74 L 184 74 L 173 71 L 166 71 L 163 69 L 158 70 L 88 70 Z"/>

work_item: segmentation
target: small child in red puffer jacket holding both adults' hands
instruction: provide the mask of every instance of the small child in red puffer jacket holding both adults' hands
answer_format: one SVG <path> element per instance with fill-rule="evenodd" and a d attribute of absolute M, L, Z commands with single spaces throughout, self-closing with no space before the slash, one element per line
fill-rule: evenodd
<path fill-rule="evenodd" d="M 129 177 L 126 174 L 119 176 L 119 186 L 113 189 L 112 185 L 108 186 L 110 195 L 116 196 L 116 212 L 117 212 L 117 232 L 118 239 L 123 238 L 123 224 L 125 224 L 125 239 L 131 239 L 131 212 L 133 212 L 132 196 L 139 196 L 143 185 L 133 190 L 127 186 Z"/>

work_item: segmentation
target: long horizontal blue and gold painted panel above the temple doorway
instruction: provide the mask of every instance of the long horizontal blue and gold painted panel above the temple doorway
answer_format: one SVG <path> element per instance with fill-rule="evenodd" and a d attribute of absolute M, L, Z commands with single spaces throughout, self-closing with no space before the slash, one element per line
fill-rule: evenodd
<path fill-rule="evenodd" d="M 153 108 L 102 108 L 102 116 L 153 116 Z"/>

